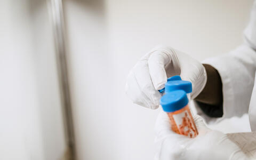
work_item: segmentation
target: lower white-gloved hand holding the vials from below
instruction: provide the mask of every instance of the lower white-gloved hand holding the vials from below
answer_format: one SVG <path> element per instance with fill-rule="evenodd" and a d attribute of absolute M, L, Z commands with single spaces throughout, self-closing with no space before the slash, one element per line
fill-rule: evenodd
<path fill-rule="evenodd" d="M 161 110 L 155 125 L 156 160 L 249 159 L 226 134 L 206 127 L 198 115 L 194 120 L 199 134 L 196 138 L 188 138 L 171 130 L 169 118 Z"/>

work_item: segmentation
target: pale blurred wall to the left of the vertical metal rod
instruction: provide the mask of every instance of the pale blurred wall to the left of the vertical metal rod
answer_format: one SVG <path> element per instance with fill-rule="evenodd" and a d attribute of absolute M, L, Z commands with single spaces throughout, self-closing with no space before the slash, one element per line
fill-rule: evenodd
<path fill-rule="evenodd" d="M 0 1 L 0 159 L 65 151 L 46 1 Z"/>

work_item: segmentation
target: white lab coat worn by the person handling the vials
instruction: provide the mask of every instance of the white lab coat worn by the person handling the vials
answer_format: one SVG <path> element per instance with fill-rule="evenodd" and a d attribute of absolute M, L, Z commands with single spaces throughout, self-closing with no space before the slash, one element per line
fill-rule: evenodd
<path fill-rule="evenodd" d="M 244 30 L 244 44 L 203 63 L 219 71 L 223 92 L 223 117 L 206 118 L 206 122 L 249 113 L 251 129 L 256 131 L 256 1 L 252 7 L 249 25 Z"/>

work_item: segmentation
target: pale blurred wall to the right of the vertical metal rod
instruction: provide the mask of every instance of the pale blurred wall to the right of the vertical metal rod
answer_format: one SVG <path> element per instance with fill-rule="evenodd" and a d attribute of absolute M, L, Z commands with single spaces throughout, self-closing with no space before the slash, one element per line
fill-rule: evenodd
<path fill-rule="evenodd" d="M 234 49 L 252 1 L 65 1 L 78 159 L 153 159 L 157 110 L 124 93 L 157 44 L 198 60 Z"/>

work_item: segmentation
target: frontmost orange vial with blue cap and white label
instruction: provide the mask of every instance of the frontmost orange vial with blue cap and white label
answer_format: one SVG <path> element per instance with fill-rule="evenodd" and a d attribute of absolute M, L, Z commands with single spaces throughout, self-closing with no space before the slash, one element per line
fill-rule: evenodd
<path fill-rule="evenodd" d="M 174 132 L 186 135 L 189 138 L 194 138 L 198 135 L 185 91 L 177 90 L 166 93 L 161 98 L 160 104 L 167 113 L 171 129 Z"/>

